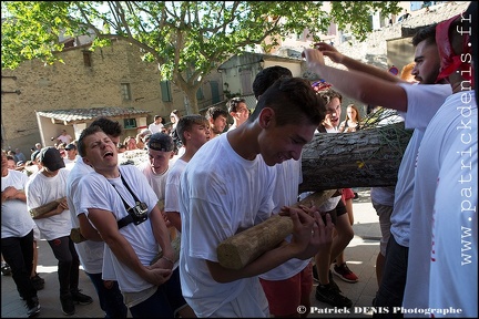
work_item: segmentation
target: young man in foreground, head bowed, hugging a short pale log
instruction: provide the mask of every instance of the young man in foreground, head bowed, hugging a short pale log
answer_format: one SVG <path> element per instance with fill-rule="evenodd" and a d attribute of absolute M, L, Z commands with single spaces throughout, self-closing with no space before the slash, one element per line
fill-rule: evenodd
<path fill-rule="evenodd" d="M 221 266 L 216 253 L 220 243 L 271 216 L 273 166 L 299 160 L 323 114 L 324 103 L 307 81 L 281 79 L 245 123 L 205 143 L 190 161 L 180 183 L 180 277 L 183 296 L 197 317 L 269 317 L 257 276 L 291 258 L 308 259 L 329 248 L 330 217 L 325 226 L 315 207 L 302 206 L 283 208 L 293 220 L 292 241 L 242 269 Z"/>

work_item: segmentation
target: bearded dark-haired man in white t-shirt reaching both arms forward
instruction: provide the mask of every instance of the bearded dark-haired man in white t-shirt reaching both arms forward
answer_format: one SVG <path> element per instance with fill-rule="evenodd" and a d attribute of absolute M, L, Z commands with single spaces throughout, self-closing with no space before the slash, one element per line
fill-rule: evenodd
<path fill-rule="evenodd" d="M 419 30 L 412 38 L 412 45 L 416 47 L 416 65 L 411 74 L 419 82 L 417 85 L 346 56 L 327 43 L 318 43 L 319 51 L 305 50 L 309 66 L 343 93 L 366 104 L 400 111 L 406 128 L 415 130 L 398 171 L 394 210 L 390 217 L 391 236 L 387 245 L 381 284 L 374 302 L 376 307 L 390 307 L 390 313 L 393 307 L 402 306 L 418 148 L 428 123 L 446 97 L 451 94 L 450 85 L 445 84 L 444 80 L 438 81 L 442 84 L 434 84 L 439 74 L 439 55 L 435 35 L 436 25 L 432 24 Z M 322 53 L 334 62 L 346 65 L 349 71 L 325 65 Z M 374 317 L 389 317 L 390 313 L 375 313 Z M 397 311 L 395 316 L 401 317 L 402 313 Z"/>

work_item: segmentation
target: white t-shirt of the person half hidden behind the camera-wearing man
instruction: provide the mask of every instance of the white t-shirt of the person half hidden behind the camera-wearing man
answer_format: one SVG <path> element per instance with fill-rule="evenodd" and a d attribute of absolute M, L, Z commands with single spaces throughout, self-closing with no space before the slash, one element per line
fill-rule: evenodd
<path fill-rule="evenodd" d="M 75 197 L 78 193 L 78 185 L 80 183 L 80 179 L 83 176 L 88 175 L 90 172 L 93 172 L 93 168 L 86 165 L 83 162 L 83 158 L 80 157 L 77 160 L 77 163 L 71 168 L 69 177 L 67 178 L 67 202 L 70 208 L 72 227 L 74 228 L 80 227 L 78 216 L 80 214 L 84 214 L 80 210 L 77 210 L 77 207 L 80 208 L 80 203 L 78 200 L 81 202 L 82 199 Z M 85 240 L 74 245 L 83 269 L 88 274 L 102 272 L 104 243 Z"/>

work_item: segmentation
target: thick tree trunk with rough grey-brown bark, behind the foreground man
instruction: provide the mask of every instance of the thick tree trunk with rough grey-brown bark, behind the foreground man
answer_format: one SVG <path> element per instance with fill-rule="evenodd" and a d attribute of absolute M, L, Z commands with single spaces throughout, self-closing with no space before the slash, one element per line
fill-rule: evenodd
<path fill-rule="evenodd" d="M 396 185 L 411 135 L 404 123 L 315 135 L 303 150 L 299 192 Z"/>

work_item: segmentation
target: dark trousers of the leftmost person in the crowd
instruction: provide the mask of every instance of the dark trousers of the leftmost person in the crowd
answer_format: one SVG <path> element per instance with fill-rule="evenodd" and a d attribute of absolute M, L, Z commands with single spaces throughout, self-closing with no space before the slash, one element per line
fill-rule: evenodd
<path fill-rule="evenodd" d="M 12 278 L 20 295 L 29 300 L 37 297 L 30 274 L 33 268 L 33 229 L 24 237 L 1 238 L 4 261 L 12 270 Z"/>

